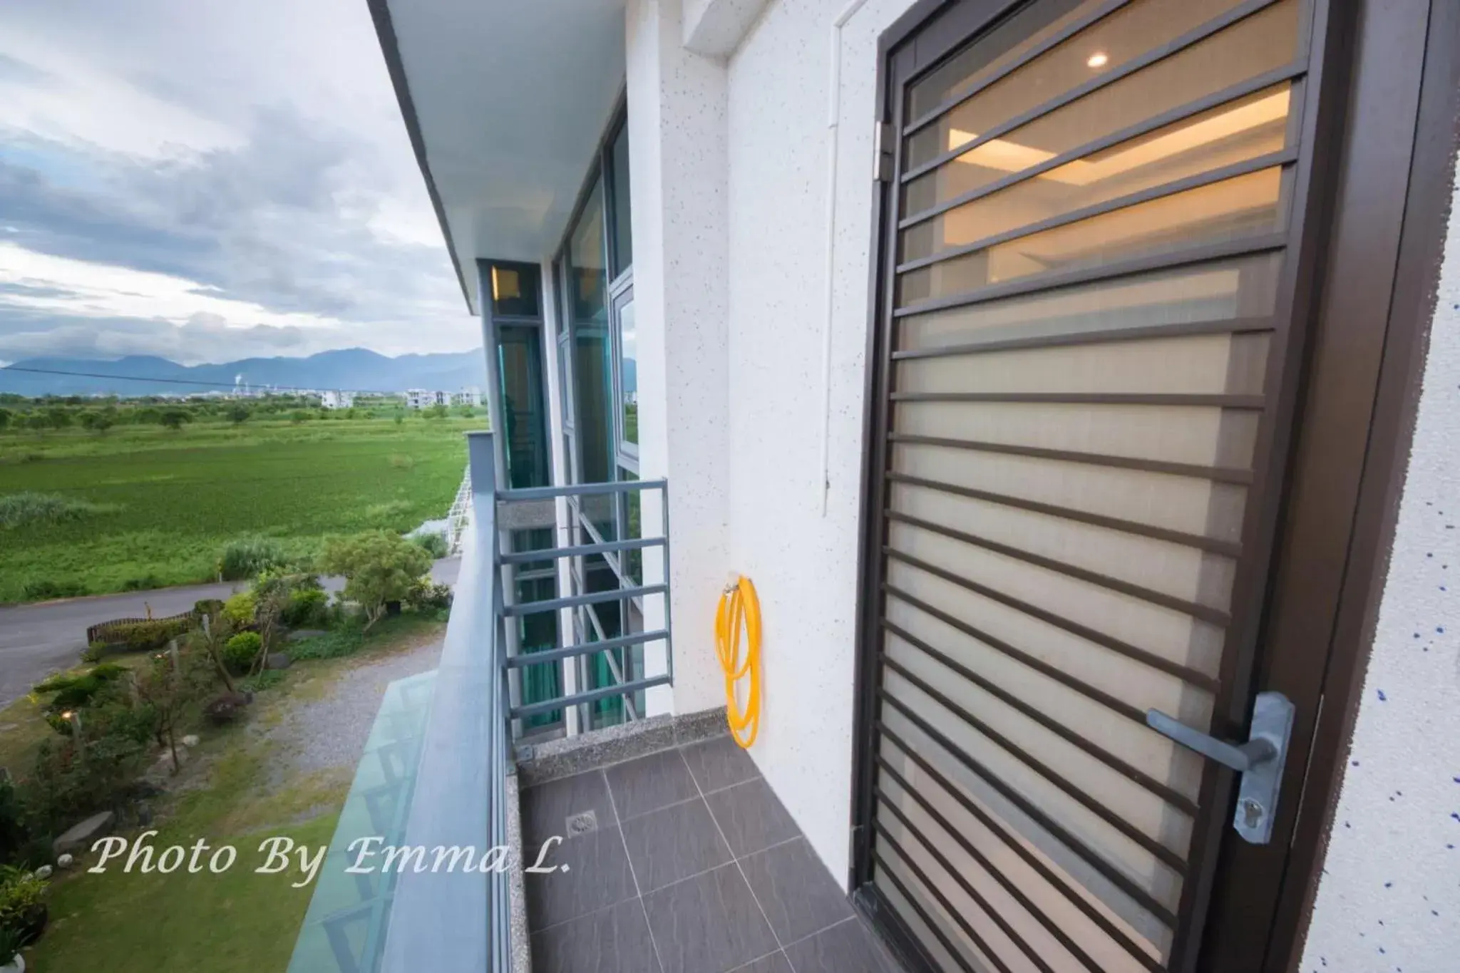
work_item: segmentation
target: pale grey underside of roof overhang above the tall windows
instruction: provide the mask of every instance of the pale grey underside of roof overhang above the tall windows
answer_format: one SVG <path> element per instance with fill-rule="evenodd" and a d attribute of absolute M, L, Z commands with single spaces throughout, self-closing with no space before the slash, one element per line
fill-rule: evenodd
<path fill-rule="evenodd" d="M 623 85 L 623 0 L 366 0 L 416 160 L 477 311 L 474 261 L 537 263 Z"/>

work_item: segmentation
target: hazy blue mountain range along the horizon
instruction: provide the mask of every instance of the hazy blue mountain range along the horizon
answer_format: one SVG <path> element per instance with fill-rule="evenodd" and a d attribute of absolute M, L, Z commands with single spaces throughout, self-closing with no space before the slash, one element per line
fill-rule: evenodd
<path fill-rule="evenodd" d="M 36 371 L 19 371 L 36 369 Z M 57 375 L 57 372 L 67 372 Z M 365 349 L 308 357 L 254 357 L 220 365 L 178 365 L 150 354 L 114 360 L 34 357 L 0 368 L 0 392 L 20 395 L 178 395 L 226 391 L 235 378 L 250 388 L 277 387 L 400 392 L 407 388 L 485 388 L 480 349 L 387 357 Z M 196 384 L 194 384 L 196 382 Z"/>

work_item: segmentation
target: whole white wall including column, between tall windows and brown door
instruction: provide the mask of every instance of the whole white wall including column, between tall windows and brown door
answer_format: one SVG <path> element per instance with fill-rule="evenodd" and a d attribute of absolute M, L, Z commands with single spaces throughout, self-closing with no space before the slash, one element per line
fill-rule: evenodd
<path fill-rule="evenodd" d="M 829 417 L 828 57 L 845 0 L 772 1 L 727 60 L 683 47 L 679 0 L 628 9 L 641 474 L 673 490 L 673 708 L 723 700 L 714 607 L 727 573 L 750 576 L 766 691 L 750 753 L 838 881 L 850 864 L 876 38 L 907 6 L 872 0 L 842 31 Z"/>

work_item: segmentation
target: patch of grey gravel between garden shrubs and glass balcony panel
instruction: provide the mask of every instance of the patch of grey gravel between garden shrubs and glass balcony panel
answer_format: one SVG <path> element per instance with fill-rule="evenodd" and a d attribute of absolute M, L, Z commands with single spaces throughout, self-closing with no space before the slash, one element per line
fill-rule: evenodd
<path fill-rule="evenodd" d="M 439 659 L 441 642 L 428 642 L 334 675 L 318 699 L 292 699 L 283 719 L 263 731 L 279 756 L 270 773 L 273 782 L 321 770 L 353 773 L 385 687 L 437 668 Z"/>

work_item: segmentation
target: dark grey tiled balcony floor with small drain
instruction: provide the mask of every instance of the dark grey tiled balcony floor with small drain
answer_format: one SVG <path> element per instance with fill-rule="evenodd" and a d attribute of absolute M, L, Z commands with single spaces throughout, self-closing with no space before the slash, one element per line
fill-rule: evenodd
<path fill-rule="evenodd" d="M 529 788 L 534 973 L 901 973 L 729 737 Z M 585 815 L 591 820 L 585 821 Z"/>

